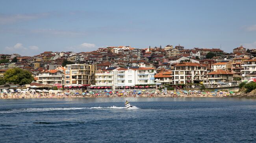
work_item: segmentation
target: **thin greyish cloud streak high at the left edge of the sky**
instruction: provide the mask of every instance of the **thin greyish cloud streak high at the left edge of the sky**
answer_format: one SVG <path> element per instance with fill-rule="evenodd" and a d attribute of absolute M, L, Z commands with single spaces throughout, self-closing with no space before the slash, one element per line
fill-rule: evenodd
<path fill-rule="evenodd" d="M 20 21 L 33 20 L 48 16 L 49 13 L 36 14 L 0 14 L 0 24 L 13 24 Z"/>

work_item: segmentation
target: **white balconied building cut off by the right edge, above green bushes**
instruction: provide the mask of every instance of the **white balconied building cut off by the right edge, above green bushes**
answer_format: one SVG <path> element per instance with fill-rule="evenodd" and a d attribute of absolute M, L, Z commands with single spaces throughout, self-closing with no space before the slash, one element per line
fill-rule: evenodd
<path fill-rule="evenodd" d="M 241 70 L 242 82 L 256 78 L 256 59 L 244 61 L 242 67 L 244 68 Z"/>

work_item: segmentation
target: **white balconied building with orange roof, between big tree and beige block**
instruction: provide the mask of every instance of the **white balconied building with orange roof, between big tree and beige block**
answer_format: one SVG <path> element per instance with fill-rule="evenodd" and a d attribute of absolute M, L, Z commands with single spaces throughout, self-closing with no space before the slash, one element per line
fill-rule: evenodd
<path fill-rule="evenodd" d="M 48 85 L 54 85 L 54 84 L 64 84 L 64 73 L 63 71 L 59 70 L 48 70 L 43 71 L 40 74 L 38 74 L 35 77 L 35 80 L 37 83 L 41 84 L 48 84 Z"/>

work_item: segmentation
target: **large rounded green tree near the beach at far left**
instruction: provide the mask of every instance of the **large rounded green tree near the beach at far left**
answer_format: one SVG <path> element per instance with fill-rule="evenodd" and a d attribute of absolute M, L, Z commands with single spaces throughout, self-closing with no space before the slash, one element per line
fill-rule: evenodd
<path fill-rule="evenodd" d="M 33 79 L 31 72 L 20 68 L 8 69 L 6 73 L 4 73 L 4 80 L 14 84 L 29 84 Z"/>

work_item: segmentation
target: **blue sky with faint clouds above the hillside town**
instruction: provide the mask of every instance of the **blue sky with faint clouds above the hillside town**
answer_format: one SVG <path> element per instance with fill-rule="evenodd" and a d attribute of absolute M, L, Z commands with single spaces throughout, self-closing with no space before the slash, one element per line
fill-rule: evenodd
<path fill-rule="evenodd" d="M 256 48 L 256 0 L 1 0 L 0 54 Z"/>

